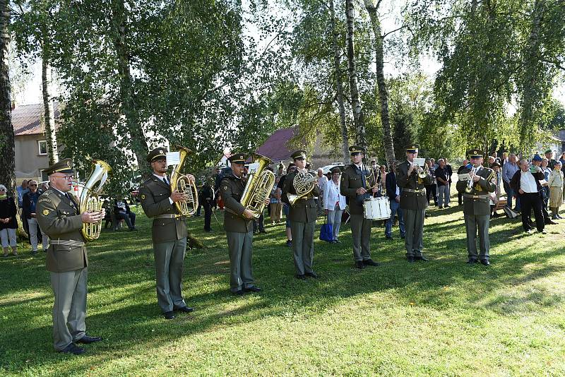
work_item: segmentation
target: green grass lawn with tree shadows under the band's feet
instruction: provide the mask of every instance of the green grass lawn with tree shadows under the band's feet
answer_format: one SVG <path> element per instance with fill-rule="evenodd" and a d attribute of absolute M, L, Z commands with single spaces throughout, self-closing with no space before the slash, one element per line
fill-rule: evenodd
<path fill-rule="evenodd" d="M 545 236 L 524 235 L 519 218 L 493 220 L 486 268 L 465 264 L 460 207 L 429 213 L 429 262 L 405 261 L 398 227 L 393 241 L 374 227 L 381 265 L 356 270 L 345 225 L 342 244 L 316 239 L 319 279 L 307 281 L 294 277 L 284 225 L 269 225 L 254 241 L 263 292 L 244 297 L 229 292 L 221 228 L 191 219 L 208 249 L 186 255 L 196 311 L 174 321 L 157 306 L 150 221 L 139 215 L 139 232 L 105 231 L 88 246 L 86 323 L 104 341 L 81 357 L 54 352 L 44 254 L 20 249 L 0 261 L 0 374 L 564 376 L 565 220 Z"/>

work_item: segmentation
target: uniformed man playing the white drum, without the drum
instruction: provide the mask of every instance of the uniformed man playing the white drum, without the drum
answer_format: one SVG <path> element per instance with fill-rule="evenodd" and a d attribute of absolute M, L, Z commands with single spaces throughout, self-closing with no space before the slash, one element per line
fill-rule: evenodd
<path fill-rule="evenodd" d="M 341 195 L 349 199 L 355 267 L 363 269 L 366 265 L 379 265 L 371 259 L 373 220 L 364 217 L 363 202 L 378 190 L 376 182 L 380 179 L 380 172 L 363 163 L 364 148 L 352 145 L 349 151 L 352 164 L 347 165 L 341 175 L 340 191 Z"/>

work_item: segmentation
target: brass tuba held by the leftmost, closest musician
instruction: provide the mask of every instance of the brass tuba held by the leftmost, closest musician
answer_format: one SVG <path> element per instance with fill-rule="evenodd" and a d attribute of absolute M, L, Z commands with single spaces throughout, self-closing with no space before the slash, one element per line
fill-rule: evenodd
<path fill-rule="evenodd" d="M 100 212 L 102 210 L 102 201 L 98 197 L 102 192 L 102 186 L 108 179 L 108 174 L 112 172 L 112 168 L 102 160 L 93 160 L 93 171 L 88 176 L 81 192 L 81 198 L 78 201 L 79 213 L 83 212 Z M 100 182 L 96 188 L 95 184 Z M 102 219 L 100 222 L 85 222 L 81 233 L 86 241 L 94 241 L 100 237 L 102 230 Z"/>

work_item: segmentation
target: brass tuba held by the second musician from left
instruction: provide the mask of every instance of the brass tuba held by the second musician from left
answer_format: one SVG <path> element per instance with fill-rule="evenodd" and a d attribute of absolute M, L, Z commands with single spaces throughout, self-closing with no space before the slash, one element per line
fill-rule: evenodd
<path fill-rule="evenodd" d="M 174 205 L 181 215 L 190 217 L 198 209 L 198 188 L 196 188 L 194 181 L 191 182 L 188 176 L 181 173 L 181 169 L 186 157 L 193 152 L 189 148 L 184 148 L 180 145 L 172 145 L 171 147 L 171 149 L 177 150 L 180 154 L 179 164 L 172 167 L 171 191 L 179 191 L 179 193 L 184 193 L 186 196 L 185 201 L 174 202 Z"/>

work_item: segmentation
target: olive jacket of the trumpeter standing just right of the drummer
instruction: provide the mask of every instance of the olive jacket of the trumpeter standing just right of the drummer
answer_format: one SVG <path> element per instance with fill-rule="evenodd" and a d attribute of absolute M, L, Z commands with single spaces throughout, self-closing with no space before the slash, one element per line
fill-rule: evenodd
<path fill-rule="evenodd" d="M 396 184 L 398 184 L 398 187 L 403 188 L 400 191 L 400 208 L 403 210 L 424 210 L 428 206 L 426 185 L 432 184 L 432 176 L 428 173 L 422 179 L 422 182 L 418 183 L 416 169 L 412 171 L 410 176 L 408 175 L 408 169 L 410 169 L 410 162 L 408 161 L 399 164 L 396 168 Z M 405 191 L 404 188 L 419 190 L 420 192 L 411 193 Z"/>

